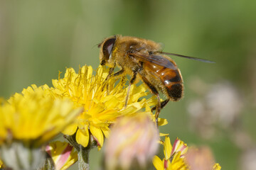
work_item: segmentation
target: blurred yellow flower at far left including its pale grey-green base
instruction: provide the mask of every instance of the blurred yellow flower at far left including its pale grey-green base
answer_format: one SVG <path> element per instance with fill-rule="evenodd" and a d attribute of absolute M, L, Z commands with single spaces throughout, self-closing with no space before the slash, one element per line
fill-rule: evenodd
<path fill-rule="evenodd" d="M 35 169 L 41 146 L 75 120 L 82 109 L 69 99 L 53 98 L 48 86 L 28 87 L 0 106 L 0 154 L 12 169 Z M 31 164 L 32 162 L 32 164 Z"/>

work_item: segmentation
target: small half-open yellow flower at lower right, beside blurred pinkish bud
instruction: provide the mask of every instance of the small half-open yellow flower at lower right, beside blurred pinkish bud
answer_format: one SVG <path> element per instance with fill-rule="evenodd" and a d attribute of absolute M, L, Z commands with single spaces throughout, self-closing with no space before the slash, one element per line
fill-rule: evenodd
<path fill-rule="evenodd" d="M 154 156 L 153 164 L 157 170 L 186 170 L 188 166 L 184 162 L 184 154 L 187 152 L 187 145 L 178 140 L 175 140 L 174 145 L 171 146 L 169 137 L 164 140 L 164 159 Z"/>

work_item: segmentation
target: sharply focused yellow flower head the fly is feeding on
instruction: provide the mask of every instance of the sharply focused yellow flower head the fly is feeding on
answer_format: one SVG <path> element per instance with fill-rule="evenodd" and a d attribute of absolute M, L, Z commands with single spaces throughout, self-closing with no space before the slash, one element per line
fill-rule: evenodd
<path fill-rule="evenodd" d="M 139 98 L 146 96 L 146 86 L 132 85 L 127 108 L 124 108 L 124 100 L 127 95 L 125 82 L 110 79 L 105 82 L 109 69 L 98 67 L 95 75 L 92 67 L 84 66 L 78 74 L 74 69 L 67 69 L 63 79 L 53 79 L 54 95 L 70 98 L 77 107 L 82 106 L 84 111 L 77 122 L 67 128 L 63 133 L 73 135 L 76 132 L 76 141 L 83 147 L 87 147 L 90 134 L 97 141 L 98 149 L 104 142 L 104 136 L 109 136 L 109 125 L 120 115 L 135 113 L 146 106 L 154 106 L 153 98 L 146 100 Z M 108 84 L 108 91 L 106 90 Z"/>

